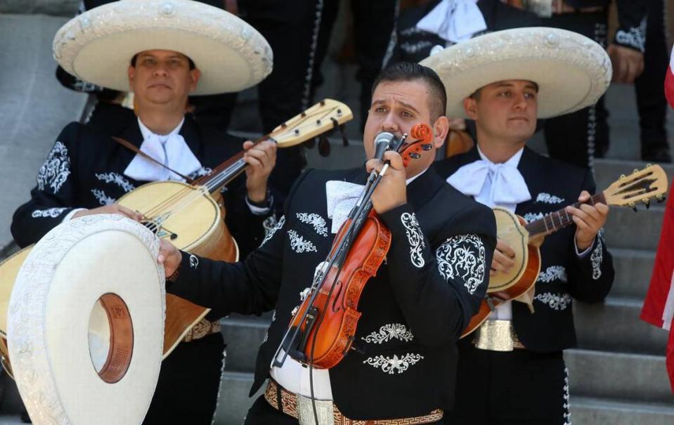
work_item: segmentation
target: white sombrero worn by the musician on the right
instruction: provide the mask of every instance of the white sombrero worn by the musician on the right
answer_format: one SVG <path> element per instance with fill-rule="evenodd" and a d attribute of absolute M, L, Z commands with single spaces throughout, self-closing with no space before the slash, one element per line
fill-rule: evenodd
<path fill-rule="evenodd" d="M 445 84 L 447 116 L 465 117 L 463 99 L 496 81 L 538 84 L 538 117 L 550 118 L 593 105 L 611 82 L 604 48 L 576 32 L 517 28 L 462 41 L 422 60 Z"/>

